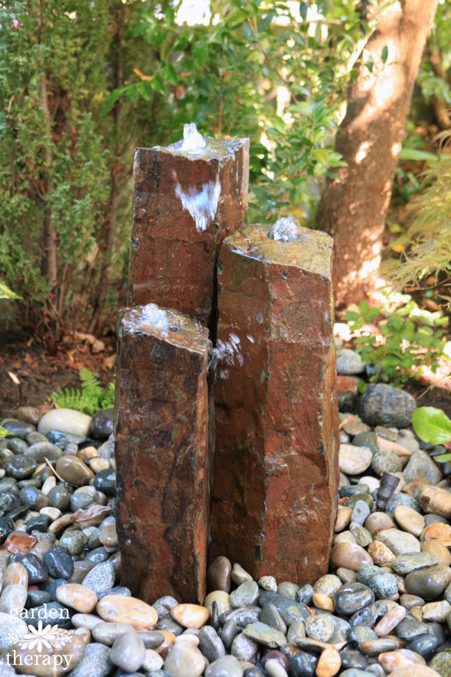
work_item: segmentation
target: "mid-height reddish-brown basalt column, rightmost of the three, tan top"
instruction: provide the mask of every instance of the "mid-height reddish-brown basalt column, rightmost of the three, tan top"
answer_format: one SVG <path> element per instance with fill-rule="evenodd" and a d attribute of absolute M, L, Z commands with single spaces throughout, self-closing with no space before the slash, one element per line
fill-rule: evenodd
<path fill-rule="evenodd" d="M 219 256 L 210 555 L 313 583 L 339 478 L 332 239 L 291 229 L 278 242 L 271 226 L 244 226 Z"/>

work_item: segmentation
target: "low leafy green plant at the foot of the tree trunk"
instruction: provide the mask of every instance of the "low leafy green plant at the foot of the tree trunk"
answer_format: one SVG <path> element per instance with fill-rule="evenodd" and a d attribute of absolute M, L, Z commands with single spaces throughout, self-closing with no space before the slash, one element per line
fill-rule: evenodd
<path fill-rule="evenodd" d="M 448 324 L 448 318 L 421 310 L 409 295 L 404 297 L 405 305 L 392 313 L 369 308 L 366 301 L 359 303 L 358 312 L 346 311 L 352 331 L 380 319 L 381 338 L 373 331 L 365 331 L 354 340 L 362 360 L 380 369 L 371 381 L 382 379 L 399 385 L 409 378 L 418 378 L 421 367 L 436 371 L 439 357 L 445 351 L 445 330 L 439 326 Z"/>

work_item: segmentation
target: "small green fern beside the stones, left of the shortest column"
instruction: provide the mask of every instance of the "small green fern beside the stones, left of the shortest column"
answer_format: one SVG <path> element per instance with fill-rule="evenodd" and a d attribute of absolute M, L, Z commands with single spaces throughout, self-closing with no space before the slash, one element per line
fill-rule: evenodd
<path fill-rule="evenodd" d="M 114 383 L 103 388 L 90 369 L 80 369 L 80 381 L 81 390 L 64 388 L 52 392 L 49 401 L 55 402 L 60 408 L 75 409 L 90 416 L 95 411 L 114 406 Z"/>

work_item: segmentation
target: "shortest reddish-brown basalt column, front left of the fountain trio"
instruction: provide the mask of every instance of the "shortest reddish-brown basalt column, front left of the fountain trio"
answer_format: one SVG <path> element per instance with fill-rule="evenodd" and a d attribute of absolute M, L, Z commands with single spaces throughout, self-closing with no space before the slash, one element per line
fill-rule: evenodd
<path fill-rule="evenodd" d="M 122 585 L 153 603 L 205 595 L 207 329 L 153 304 L 119 310 L 115 406 Z"/>

